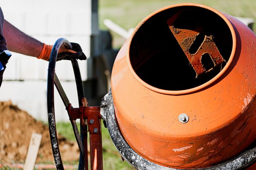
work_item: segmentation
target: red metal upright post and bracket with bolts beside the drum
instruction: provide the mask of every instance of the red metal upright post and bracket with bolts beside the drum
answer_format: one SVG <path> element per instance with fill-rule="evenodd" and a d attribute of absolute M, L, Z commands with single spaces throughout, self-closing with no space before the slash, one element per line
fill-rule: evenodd
<path fill-rule="evenodd" d="M 86 100 L 86 99 L 83 99 Z M 73 108 L 69 105 L 69 114 L 71 119 L 80 119 L 82 126 L 85 129 L 88 127 L 90 139 L 90 165 L 91 170 L 103 170 L 102 158 L 102 137 L 101 137 L 101 114 L 100 106 L 86 106 L 83 104 L 80 108 Z M 87 133 L 85 132 L 85 133 Z M 85 153 L 85 170 L 88 170 L 87 135 L 84 139 Z"/>

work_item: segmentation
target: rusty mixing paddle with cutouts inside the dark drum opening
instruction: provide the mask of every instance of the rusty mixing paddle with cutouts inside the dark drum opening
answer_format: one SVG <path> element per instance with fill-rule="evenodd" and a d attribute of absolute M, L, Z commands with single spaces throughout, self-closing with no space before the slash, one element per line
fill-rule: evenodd
<path fill-rule="evenodd" d="M 214 68 L 218 68 L 218 66 L 224 62 L 224 58 L 220 54 L 220 51 L 213 40 L 213 35 L 206 35 L 203 32 L 203 26 L 200 26 L 196 19 L 189 18 L 191 15 L 183 17 L 182 12 L 183 11 L 179 11 L 173 15 L 167 23 L 193 67 L 197 78 L 207 71 L 212 71 Z M 184 25 L 184 22 L 186 23 L 187 21 L 190 23 L 192 22 L 192 26 Z M 196 41 L 198 39 L 201 39 L 201 43 Z M 192 50 L 195 52 L 191 53 Z M 201 61 L 204 54 L 209 54 L 213 62 L 213 67 L 209 70 L 205 68 Z M 209 62 L 211 61 L 209 60 Z"/>

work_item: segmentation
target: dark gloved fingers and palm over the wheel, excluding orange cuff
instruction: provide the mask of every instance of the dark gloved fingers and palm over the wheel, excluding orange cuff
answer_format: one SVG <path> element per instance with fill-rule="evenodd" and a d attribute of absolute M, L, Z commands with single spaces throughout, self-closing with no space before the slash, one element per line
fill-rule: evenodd
<path fill-rule="evenodd" d="M 86 56 L 83 53 L 81 46 L 77 43 L 71 42 L 72 50 L 67 49 L 63 44 L 58 51 L 57 61 L 59 60 L 70 60 L 70 57 L 74 57 L 79 60 L 86 60 Z"/>

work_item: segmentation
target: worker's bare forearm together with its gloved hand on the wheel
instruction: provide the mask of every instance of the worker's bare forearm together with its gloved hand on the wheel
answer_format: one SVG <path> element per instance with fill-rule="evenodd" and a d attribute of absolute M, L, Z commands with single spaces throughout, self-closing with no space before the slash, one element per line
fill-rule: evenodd
<path fill-rule="evenodd" d="M 38 57 L 38 59 L 49 60 L 52 51 L 52 45 L 44 44 L 35 38 L 23 33 L 7 20 L 4 20 L 3 25 L 4 38 L 7 41 L 9 51 L 16 53 Z M 82 52 L 79 44 L 72 43 L 73 49 L 66 49 L 64 45 L 59 50 L 59 60 L 65 59 L 65 55 L 77 57 L 80 60 L 85 60 L 86 57 Z"/>

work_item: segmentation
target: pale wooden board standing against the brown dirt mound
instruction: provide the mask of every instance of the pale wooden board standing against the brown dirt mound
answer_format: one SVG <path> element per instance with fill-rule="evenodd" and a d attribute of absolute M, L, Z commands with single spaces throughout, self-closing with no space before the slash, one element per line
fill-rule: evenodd
<path fill-rule="evenodd" d="M 25 160 L 24 170 L 34 170 L 41 139 L 42 135 L 38 133 L 32 133 L 29 142 L 29 149 L 27 151 L 27 157 Z"/>

